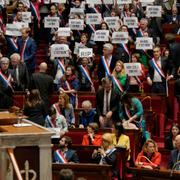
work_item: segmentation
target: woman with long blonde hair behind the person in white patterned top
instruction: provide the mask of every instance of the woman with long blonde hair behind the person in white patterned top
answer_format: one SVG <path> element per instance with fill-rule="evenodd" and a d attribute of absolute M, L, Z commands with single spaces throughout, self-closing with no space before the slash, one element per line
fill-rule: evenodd
<path fill-rule="evenodd" d="M 53 104 L 53 107 L 56 110 L 57 116 L 63 115 L 66 118 L 69 127 L 75 126 L 74 108 L 69 102 L 69 96 L 66 93 L 60 92 L 59 101 Z"/>

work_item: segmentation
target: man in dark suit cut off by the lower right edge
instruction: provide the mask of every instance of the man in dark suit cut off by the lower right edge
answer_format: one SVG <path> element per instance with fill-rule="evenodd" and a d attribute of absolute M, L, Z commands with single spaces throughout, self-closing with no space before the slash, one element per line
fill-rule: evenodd
<path fill-rule="evenodd" d="M 168 169 L 180 170 L 180 135 L 175 138 L 176 149 L 171 151 Z"/>

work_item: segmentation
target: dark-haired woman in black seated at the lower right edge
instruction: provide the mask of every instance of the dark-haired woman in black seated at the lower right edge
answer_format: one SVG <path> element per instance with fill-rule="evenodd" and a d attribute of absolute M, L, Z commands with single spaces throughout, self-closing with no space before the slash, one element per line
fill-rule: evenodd
<path fill-rule="evenodd" d="M 175 149 L 175 138 L 176 136 L 180 134 L 180 126 L 177 123 L 174 123 L 171 126 L 170 134 L 165 139 L 165 148 L 169 150 Z"/>

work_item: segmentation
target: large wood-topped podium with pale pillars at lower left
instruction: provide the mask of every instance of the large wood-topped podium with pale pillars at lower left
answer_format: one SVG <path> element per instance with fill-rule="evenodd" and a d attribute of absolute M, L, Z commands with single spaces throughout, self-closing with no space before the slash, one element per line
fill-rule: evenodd
<path fill-rule="evenodd" d="M 23 122 L 32 124 L 32 126 L 14 127 L 10 116 L 8 125 L 0 124 L 0 180 L 16 180 L 16 176 L 13 176 L 12 166 L 7 168 L 8 164 L 11 164 L 7 148 L 14 149 L 20 170 L 24 170 L 24 164 L 27 160 L 30 169 L 36 172 L 37 179 L 51 180 L 51 136 L 53 133 L 27 120 L 23 120 Z"/>

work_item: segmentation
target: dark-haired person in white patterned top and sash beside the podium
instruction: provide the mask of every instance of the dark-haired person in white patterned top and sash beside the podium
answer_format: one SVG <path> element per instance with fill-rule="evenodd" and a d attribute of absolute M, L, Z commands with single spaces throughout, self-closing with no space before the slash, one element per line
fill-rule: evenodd
<path fill-rule="evenodd" d="M 56 132 L 56 135 L 63 136 L 68 131 L 68 125 L 63 115 L 56 115 L 56 110 L 51 107 L 49 115 L 45 119 L 45 127 L 52 129 Z M 54 136 L 53 136 L 54 137 Z"/>

